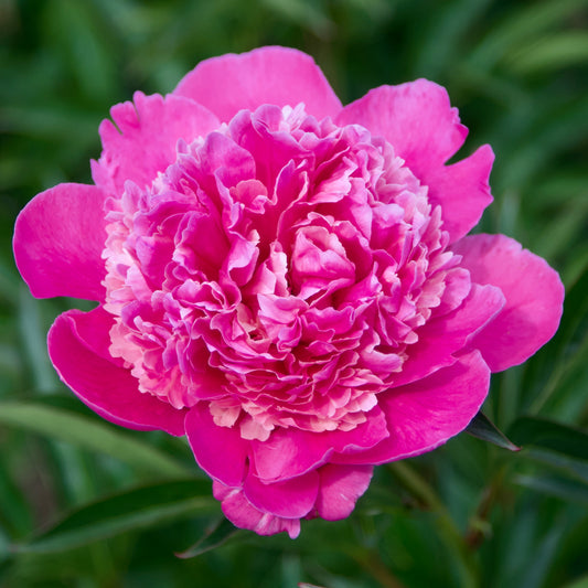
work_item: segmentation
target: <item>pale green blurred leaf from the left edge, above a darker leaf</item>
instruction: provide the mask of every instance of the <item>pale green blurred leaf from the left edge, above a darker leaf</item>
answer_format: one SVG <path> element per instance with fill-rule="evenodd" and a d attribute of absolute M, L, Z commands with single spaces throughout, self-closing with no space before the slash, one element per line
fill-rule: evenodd
<path fill-rule="evenodd" d="M 107 424 L 42 403 L 0 403 L 0 424 L 109 455 L 151 475 L 183 478 L 190 473 L 188 468 L 162 451 Z"/>

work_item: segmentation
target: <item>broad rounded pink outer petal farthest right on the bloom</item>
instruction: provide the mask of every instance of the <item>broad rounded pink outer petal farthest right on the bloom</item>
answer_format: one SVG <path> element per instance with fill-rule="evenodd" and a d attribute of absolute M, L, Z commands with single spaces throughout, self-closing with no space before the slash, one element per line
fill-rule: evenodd
<path fill-rule="evenodd" d="M 502 312 L 471 345 L 492 372 L 517 365 L 555 333 L 562 318 L 564 285 L 545 259 L 504 235 L 472 235 L 456 243 L 472 281 L 498 286 L 506 298 Z"/>

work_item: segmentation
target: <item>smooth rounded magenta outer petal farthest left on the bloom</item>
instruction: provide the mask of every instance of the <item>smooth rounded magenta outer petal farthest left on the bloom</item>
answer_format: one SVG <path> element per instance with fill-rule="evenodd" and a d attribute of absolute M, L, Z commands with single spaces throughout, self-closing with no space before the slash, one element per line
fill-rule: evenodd
<path fill-rule="evenodd" d="M 14 258 L 33 296 L 104 300 L 103 206 L 98 188 L 58 184 L 21 211 L 14 227 Z"/>

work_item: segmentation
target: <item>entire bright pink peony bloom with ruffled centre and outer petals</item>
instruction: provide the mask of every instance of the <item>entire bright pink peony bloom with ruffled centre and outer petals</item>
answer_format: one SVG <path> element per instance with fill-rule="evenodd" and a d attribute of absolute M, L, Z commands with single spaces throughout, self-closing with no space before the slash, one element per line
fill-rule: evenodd
<path fill-rule="evenodd" d="M 306 54 L 201 63 L 100 125 L 95 185 L 14 234 L 49 352 L 104 418 L 186 435 L 226 516 L 261 535 L 348 516 L 375 464 L 463 430 L 490 373 L 554 334 L 563 286 L 502 235 L 466 236 L 493 153 L 425 79 L 342 107 Z"/>

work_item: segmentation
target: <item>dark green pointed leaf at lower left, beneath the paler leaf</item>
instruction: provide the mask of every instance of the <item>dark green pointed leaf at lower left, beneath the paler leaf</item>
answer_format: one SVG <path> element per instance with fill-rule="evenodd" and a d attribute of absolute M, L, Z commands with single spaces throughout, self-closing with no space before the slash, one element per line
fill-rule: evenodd
<path fill-rule="evenodd" d="M 11 549 L 17 554 L 63 552 L 120 533 L 212 513 L 217 509 L 218 503 L 211 495 L 209 481 L 164 482 L 82 506 L 45 533 L 26 543 L 12 545 Z"/>

